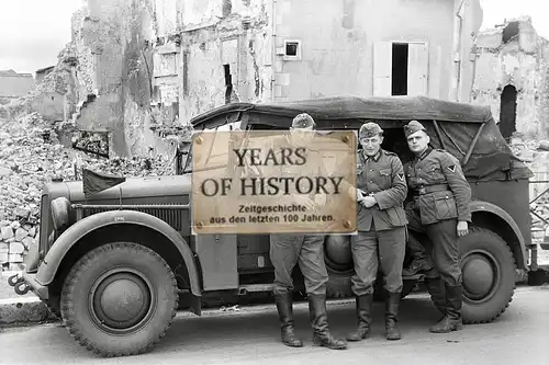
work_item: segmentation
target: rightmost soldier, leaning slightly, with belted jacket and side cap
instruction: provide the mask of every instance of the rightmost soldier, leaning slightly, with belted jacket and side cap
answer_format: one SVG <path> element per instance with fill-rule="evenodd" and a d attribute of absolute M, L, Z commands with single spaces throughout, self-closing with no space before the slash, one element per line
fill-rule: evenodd
<path fill-rule="evenodd" d="M 422 269 L 427 271 L 427 289 L 435 306 L 445 316 L 429 331 L 457 331 L 463 327 L 458 238 L 468 233 L 468 223 L 471 221 L 471 187 L 458 159 L 444 150 L 433 149 L 429 136 L 419 122 L 411 121 L 404 126 L 404 134 L 415 155 L 415 159 L 404 168 L 408 189 L 414 195 L 413 201 L 406 204 L 408 228 L 427 233 L 432 243 L 428 251 L 435 267 L 430 269 L 424 247 L 411 239 L 408 250 L 414 262 L 403 274 L 413 275 Z"/>

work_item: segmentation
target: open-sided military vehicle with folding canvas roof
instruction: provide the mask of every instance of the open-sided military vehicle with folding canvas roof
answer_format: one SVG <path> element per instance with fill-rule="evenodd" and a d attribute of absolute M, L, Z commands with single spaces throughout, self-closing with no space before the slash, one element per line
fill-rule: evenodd
<path fill-rule="evenodd" d="M 384 129 L 383 148 L 403 162 L 413 158 L 403 126 L 410 119 L 423 123 L 432 145 L 461 161 L 472 187 L 472 225 L 459 243 L 463 320 L 490 322 L 505 311 L 515 270 L 528 269 L 531 172 L 513 156 L 489 107 L 423 96 L 334 96 L 233 103 L 190 123 L 195 130 L 280 130 L 302 112 L 314 117 L 318 133 L 357 130 L 376 121 Z M 192 149 L 183 157 L 177 175 L 127 179 L 91 197 L 81 181 L 44 186 L 40 242 L 10 284 L 21 294 L 33 290 L 94 353 L 143 353 L 165 335 L 178 309 L 200 316 L 208 298 L 271 290 L 268 235 L 191 233 Z M 351 296 L 348 236 L 325 237 L 325 261 L 328 296 Z M 299 269 L 295 277 L 300 290 Z M 422 277 L 404 280 L 403 297 Z"/>

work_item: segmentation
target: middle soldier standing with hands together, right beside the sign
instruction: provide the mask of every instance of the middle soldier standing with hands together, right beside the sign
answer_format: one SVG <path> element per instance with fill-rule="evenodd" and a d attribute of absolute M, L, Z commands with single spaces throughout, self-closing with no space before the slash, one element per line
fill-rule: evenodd
<path fill-rule="evenodd" d="M 401 160 L 396 153 L 381 149 L 383 130 L 376 123 L 360 127 L 362 151 L 357 156 L 358 235 L 351 236 L 358 327 L 347 337 L 360 341 L 369 334 L 372 320 L 372 295 L 378 267 L 385 280 L 385 337 L 400 340 L 396 326 L 402 292 L 402 265 L 406 249 L 406 215 L 403 208 L 407 187 Z M 378 259 L 379 253 L 379 259 Z"/>

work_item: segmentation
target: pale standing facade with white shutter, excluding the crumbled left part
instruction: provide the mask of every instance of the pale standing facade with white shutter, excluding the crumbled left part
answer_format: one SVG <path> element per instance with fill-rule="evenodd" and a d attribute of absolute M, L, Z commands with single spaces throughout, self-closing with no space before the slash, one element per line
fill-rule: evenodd
<path fill-rule="evenodd" d="M 155 83 L 179 95 L 182 123 L 234 99 L 468 101 L 482 22 L 478 0 L 158 0 L 156 13 L 169 69 Z"/>

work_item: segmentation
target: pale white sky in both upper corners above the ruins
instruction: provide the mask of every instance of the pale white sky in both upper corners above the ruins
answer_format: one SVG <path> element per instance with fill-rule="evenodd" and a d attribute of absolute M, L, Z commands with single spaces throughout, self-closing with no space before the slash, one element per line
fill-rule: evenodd
<path fill-rule="evenodd" d="M 82 3 L 0 0 L 0 70 L 34 72 L 55 65 L 57 54 L 70 41 L 70 16 Z M 481 4 L 482 28 L 503 23 L 505 18 L 530 15 L 538 34 L 549 38 L 549 0 L 481 0 Z"/>

